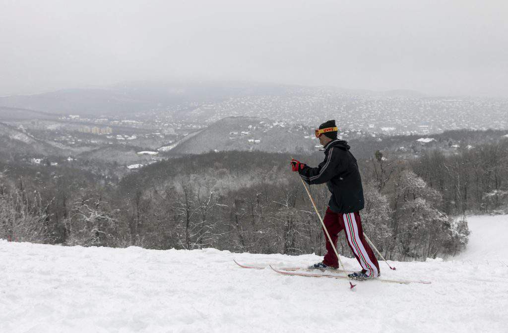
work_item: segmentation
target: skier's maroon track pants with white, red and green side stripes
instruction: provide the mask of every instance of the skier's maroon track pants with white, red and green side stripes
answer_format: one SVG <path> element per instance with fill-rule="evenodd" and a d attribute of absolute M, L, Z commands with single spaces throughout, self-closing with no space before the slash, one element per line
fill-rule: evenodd
<path fill-rule="evenodd" d="M 366 271 L 365 274 L 374 277 L 379 275 L 379 263 L 363 236 L 360 212 L 348 214 L 334 213 L 330 210 L 330 207 L 328 207 L 323 222 L 325 223 L 325 226 L 330 234 L 330 238 L 335 246 L 337 245 L 339 232 L 344 230 L 347 244 L 350 246 L 351 251 L 355 254 L 355 257 L 362 266 L 362 269 Z M 328 240 L 326 233 L 325 239 L 327 253 L 323 262 L 328 266 L 337 267 L 338 259 L 332 246 L 330 245 L 330 241 Z"/>

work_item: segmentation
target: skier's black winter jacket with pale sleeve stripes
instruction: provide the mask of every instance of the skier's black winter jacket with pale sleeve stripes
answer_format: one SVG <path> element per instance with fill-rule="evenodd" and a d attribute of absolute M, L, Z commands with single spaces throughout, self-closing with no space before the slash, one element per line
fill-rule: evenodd
<path fill-rule="evenodd" d="M 346 141 L 333 140 L 325 146 L 325 160 L 317 168 L 307 165 L 299 171 L 307 184 L 326 183 L 332 193 L 329 206 L 335 213 L 353 213 L 363 209 L 363 187 L 358 163 Z"/>

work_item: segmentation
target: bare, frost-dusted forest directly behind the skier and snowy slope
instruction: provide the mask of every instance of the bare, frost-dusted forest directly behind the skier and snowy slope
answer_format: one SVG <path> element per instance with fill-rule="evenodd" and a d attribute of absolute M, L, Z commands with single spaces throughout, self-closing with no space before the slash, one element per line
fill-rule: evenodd
<path fill-rule="evenodd" d="M 295 156 L 317 165 L 322 152 Z M 148 165 L 117 184 L 80 170 L 7 168 L 0 238 L 36 243 L 303 254 L 324 236 L 288 154 L 210 152 Z M 508 140 L 459 154 L 359 160 L 366 235 L 388 259 L 425 260 L 465 247 L 466 213 L 508 211 Z M 310 186 L 324 212 L 326 185 Z M 339 252 L 350 255 L 343 238 Z"/>

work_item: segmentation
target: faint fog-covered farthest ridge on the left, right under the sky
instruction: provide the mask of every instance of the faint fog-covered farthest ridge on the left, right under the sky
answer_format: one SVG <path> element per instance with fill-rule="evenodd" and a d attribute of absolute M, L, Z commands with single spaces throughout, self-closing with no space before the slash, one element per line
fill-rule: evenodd
<path fill-rule="evenodd" d="M 185 102 L 217 102 L 230 97 L 281 95 L 294 86 L 242 82 L 130 82 L 109 88 L 63 89 L 35 95 L 0 97 L 2 107 L 53 115 L 128 115 Z M 18 115 L 19 116 L 19 115 Z M 40 118 L 40 117 L 39 117 Z"/>

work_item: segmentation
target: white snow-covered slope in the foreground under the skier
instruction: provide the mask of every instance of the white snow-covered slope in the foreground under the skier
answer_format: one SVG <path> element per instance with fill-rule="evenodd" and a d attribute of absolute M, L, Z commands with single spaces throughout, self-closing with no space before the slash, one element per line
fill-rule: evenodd
<path fill-rule="evenodd" d="M 384 278 L 432 284 L 366 281 L 353 290 L 347 280 L 233 262 L 304 266 L 315 255 L 0 240 L 0 332 L 508 332 L 508 266 L 499 260 L 508 216 L 469 224 L 470 248 L 455 260 L 390 262 L 396 271 L 379 262 Z M 498 259 L 484 257 L 496 251 Z"/>

